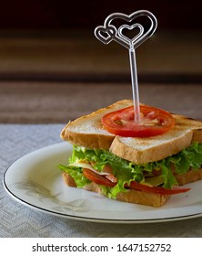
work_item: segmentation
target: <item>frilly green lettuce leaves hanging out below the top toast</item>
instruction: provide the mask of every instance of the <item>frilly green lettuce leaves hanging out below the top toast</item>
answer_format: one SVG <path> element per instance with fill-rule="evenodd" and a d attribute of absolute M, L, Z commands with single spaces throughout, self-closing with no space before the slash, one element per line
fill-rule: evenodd
<path fill-rule="evenodd" d="M 102 171 L 105 165 L 111 165 L 113 174 L 117 178 L 117 184 L 112 188 L 107 187 L 106 189 L 102 187 L 102 190 L 105 190 L 106 196 L 116 198 L 118 192 L 126 191 L 126 184 L 130 184 L 131 181 L 138 183 L 144 182 L 145 176 L 152 176 L 153 170 L 161 171 L 163 178 L 162 187 L 172 188 L 177 185 L 177 180 L 173 174 L 172 168 L 175 168 L 177 174 L 187 173 L 190 168 L 194 170 L 200 168 L 202 165 L 202 144 L 191 144 L 187 149 L 182 150 L 177 155 L 171 155 L 163 160 L 147 163 L 145 165 L 136 165 L 106 150 L 88 149 L 75 145 L 69 163 L 75 163 L 79 160 L 96 163 L 94 168 L 97 171 Z M 77 187 L 84 187 L 90 183 L 90 181 L 83 176 L 81 167 L 59 165 L 59 168 L 75 179 Z"/>

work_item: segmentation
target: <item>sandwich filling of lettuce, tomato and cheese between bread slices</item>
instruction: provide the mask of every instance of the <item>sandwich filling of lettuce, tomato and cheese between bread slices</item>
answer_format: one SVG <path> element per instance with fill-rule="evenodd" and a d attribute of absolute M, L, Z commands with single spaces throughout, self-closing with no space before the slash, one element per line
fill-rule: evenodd
<path fill-rule="evenodd" d="M 157 162 L 136 165 L 109 151 L 75 145 L 68 165 L 59 168 L 71 176 L 76 187 L 95 182 L 102 194 L 116 199 L 119 192 L 137 189 L 148 193 L 172 195 L 187 192 L 178 187 L 176 175 L 198 170 L 202 166 L 202 144 L 194 143 L 177 155 Z"/>

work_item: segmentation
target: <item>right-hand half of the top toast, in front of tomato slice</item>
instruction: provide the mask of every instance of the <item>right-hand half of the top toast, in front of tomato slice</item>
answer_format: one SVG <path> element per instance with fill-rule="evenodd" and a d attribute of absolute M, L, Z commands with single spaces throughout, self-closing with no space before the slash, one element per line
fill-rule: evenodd
<path fill-rule="evenodd" d="M 116 136 L 109 151 L 137 165 L 175 155 L 192 142 L 202 143 L 202 122 L 173 114 L 174 127 L 167 133 L 148 138 Z"/>

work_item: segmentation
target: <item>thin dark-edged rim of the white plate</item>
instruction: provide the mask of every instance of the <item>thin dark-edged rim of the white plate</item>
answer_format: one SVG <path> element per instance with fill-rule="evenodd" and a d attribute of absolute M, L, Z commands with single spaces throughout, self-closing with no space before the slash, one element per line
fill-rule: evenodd
<path fill-rule="evenodd" d="M 13 199 L 15 199 L 17 202 L 21 203 L 22 205 L 24 205 L 25 207 L 28 208 L 32 208 L 35 210 L 38 210 L 40 212 L 44 212 L 46 214 L 52 215 L 52 216 L 56 216 L 56 217 L 60 217 L 60 218 L 66 218 L 66 219 L 74 219 L 74 220 L 80 220 L 80 221 L 91 221 L 91 222 L 98 222 L 98 223 L 116 223 L 116 224 L 146 224 L 146 223 L 160 223 L 160 222 L 171 222 L 171 221 L 178 221 L 178 220 L 184 220 L 184 219 L 195 219 L 195 218 L 200 218 L 202 217 L 202 209 L 201 212 L 199 213 L 194 213 L 194 214 L 188 214 L 185 216 L 179 216 L 179 217 L 165 217 L 165 218 L 157 218 L 157 219 L 102 219 L 102 218 L 93 218 L 93 217 L 82 217 L 82 216 L 76 216 L 76 215 L 71 215 L 71 214 L 66 214 L 66 213 L 62 213 L 62 212 L 57 212 L 51 209 L 46 209 L 46 208 L 41 208 L 33 203 L 30 203 L 29 201 L 25 200 L 22 197 L 18 197 L 15 195 L 14 192 L 11 191 L 11 189 L 9 188 L 9 186 L 6 184 L 6 175 L 8 174 L 10 168 L 15 165 L 15 163 L 17 161 L 22 161 L 24 157 L 27 157 L 28 155 L 33 155 L 35 153 L 39 153 L 40 151 L 45 151 L 45 149 L 50 149 L 52 147 L 55 146 L 60 146 L 62 144 L 68 144 L 66 142 L 62 142 L 62 143 L 56 143 L 56 144 L 51 144 L 51 145 L 47 145 L 45 147 L 36 149 L 33 152 L 30 152 L 26 155 L 23 155 L 21 157 L 19 157 L 18 159 L 16 159 L 11 165 L 9 165 L 4 172 L 3 175 L 3 186 L 5 187 L 5 191 L 7 192 L 7 194 L 12 197 Z M 72 146 L 71 144 L 69 144 L 70 146 Z"/>

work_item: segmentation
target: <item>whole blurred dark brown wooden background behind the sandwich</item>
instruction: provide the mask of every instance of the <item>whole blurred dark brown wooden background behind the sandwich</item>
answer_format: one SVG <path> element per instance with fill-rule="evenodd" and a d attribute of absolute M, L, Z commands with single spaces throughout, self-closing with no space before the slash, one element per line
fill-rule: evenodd
<path fill-rule="evenodd" d="M 155 34 L 136 49 L 140 101 L 201 118 L 197 0 L 7 0 L 0 8 L 0 123 L 66 123 L 131 98 L 126 48 L 94 36 L 114 12 L 146 9 Z"/>

